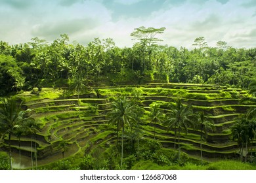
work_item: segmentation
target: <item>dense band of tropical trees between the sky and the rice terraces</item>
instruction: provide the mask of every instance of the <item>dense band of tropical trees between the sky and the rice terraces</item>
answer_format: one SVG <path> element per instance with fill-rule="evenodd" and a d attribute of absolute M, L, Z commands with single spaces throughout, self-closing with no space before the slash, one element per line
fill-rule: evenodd
<path fill-rule="evenodd" d="M 164 27 L 136 28 L 131 48 L 119 48 L 113 39 L 95 38 L 86 46 L 70 43 L 66 34 L 49 43 L 0 42 L 0 95 L 37 87 L 115 84 L 123 76 L 129 84 L 146 78 L 160 82 L 221 84 L 248 88 L 256 78 L 256 48 L 232 48 L 224 41 L 207 46 L 205 37 L 194 39 L 194 49 L 160 45 Z M 117 76 L 118 75 L 118 76 Z"/>

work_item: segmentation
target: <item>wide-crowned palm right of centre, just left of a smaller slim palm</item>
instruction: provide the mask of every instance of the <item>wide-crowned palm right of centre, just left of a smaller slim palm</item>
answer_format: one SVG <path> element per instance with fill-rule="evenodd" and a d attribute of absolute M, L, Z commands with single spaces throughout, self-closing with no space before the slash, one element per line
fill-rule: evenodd
<path fill-rule="evenodd" d="M 175 105 L 170 112 L 166 114 L 166 120 L 164 125 L 167 126 L 167 130 L 174 128 L 175 130 L 175 150 L 176 150 L 176 138 L 177 138 L 177 129 L 178 129 L 178 145 L 179 145 L 179 159 L 181 158 L 181 150 L 180 150 L 180 137 L 181 131 L 185 131 L 187 133 L 188 127 L 193 125 L 194 114 L 192 108 L 190 106 L 184 106 L 181 103 L 181 99 L 177 99 L 175 101 Z"/>

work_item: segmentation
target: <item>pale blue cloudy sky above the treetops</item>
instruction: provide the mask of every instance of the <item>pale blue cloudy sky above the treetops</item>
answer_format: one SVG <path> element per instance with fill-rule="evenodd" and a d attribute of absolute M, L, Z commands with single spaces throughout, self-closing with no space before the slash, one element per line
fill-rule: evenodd
<path fill-rule="evenodd" d="M 256 47 L 256 0 L 1 0 L 0 17 L 0 41 L 9 44 L 67 33 L 84 45 L 110 37 L 133 46 L 131 32 L 144 26 L 165 27 L 161 44 L 177 48 L 200 36 L 209 46 Z"/>

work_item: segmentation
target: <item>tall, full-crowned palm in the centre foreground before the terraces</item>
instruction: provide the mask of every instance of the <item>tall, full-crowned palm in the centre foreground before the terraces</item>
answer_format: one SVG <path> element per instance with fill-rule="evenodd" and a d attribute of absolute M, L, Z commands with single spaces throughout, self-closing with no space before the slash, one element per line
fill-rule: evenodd
<path fill-rule="evenodd" d="M 112 103 L 112 111 L 108 112 L 110 120 L 109 124 L 117 124 L 117 141 L 118 130 L 122 128 L 122 144 L 121 144 L 121 167 L 123 167 L 123 136 L 125 133 L 125 125 L 130 125 L 130 122 L 134 122 L 136 114 L 134 112 L 134 105 L 128 101 L 125 97 L 120 97 L 114 103 Z"/>

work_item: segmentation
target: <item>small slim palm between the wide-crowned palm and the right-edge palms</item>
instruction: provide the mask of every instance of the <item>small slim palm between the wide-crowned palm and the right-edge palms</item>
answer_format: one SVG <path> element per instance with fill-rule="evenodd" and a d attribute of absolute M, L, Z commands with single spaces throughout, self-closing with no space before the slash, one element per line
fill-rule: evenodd
<path fill-rule="evenodd" d="M 209 116 L 205 116 L 204 112 L 198 112 L 198 127 L 200 127 L 200 151 L 201 151 L 201 163 L 203 163 L 203 152 L 202 152 L 202 137 L 203 132 L 204 135 L 207 135 L 207 131 L 213 131 L 215 128 L 214 123 L 212 120 L 209 119 Z"/>

